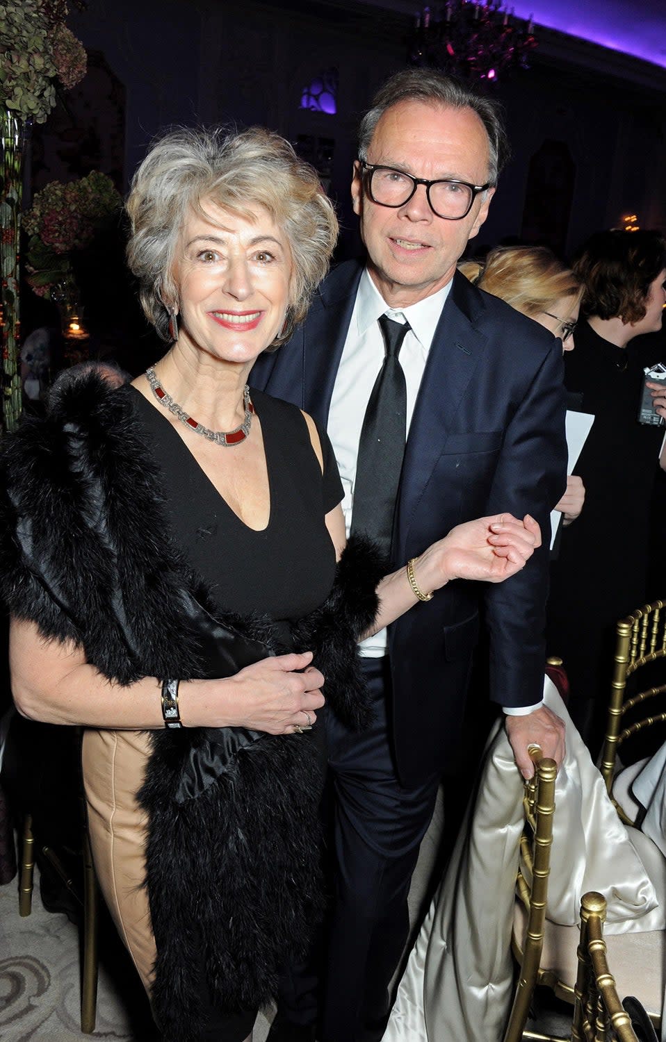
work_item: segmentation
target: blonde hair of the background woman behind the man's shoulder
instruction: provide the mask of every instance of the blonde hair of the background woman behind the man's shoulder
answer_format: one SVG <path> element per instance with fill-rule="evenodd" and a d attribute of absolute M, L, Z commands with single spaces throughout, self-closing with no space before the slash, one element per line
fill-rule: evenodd
<path fill-rule="evenodd" d="M 546 246 L 497 246 L 485 264 L 465 260 L 459 268 L 479 289 L 529 318 L 550 311 L 562 297 L 579 300 L 583 294 L 582 282 Z"/>

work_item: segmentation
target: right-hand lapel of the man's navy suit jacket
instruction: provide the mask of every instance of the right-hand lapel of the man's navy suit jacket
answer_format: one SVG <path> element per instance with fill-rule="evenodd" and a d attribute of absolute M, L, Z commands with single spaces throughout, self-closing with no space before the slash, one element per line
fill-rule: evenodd
<path fill-rule="evenodd" d="M 433 338 L 404 450 L 394 546 L 397 560 L 404 557 L 418 502 L 442 454 L 451 420 L 482 362 L 487 343 L 477 328 L 482 314 L 480 295 L 457 272 Z"/>

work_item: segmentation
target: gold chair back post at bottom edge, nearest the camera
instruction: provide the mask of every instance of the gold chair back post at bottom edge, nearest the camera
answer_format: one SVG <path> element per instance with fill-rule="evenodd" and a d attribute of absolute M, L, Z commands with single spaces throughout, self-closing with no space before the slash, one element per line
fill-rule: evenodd
<path fill-rule="evenodd" d="M 609 969 L 605 919 L 606 900 L 601 894 L 584 894 L 571 1042 L 639 1042 Z"/>

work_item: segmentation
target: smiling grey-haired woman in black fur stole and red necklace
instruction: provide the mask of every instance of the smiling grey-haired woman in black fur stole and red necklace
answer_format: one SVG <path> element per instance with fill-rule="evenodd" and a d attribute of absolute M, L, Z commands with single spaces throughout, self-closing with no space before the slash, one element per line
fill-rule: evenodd
<path fill-rule="evenodd" d="M 377 595 L 362 543 L 336 575 L 328 441 L 246 384 L 327 267 L 337 222 L 315 171 L 262 129 L 177 131 L 127 212 L 170 346 L 130 387 L 70 381 L 7 442 L 13 688 L 23 714 L 87 728 L 96 868 L 165 1039 L 240 1042 L 321 901 L 324 676 L 361 725 L 356 639 L 415 587 L 515 573 L 538 530 L 460 526 Z"/>

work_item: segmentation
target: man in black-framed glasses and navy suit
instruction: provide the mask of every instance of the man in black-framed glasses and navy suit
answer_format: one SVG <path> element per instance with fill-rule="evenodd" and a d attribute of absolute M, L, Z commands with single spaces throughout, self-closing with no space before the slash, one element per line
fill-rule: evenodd
<path fill-rule="evenodd" d="M 415 607 L 362 646 L 371 728 L 351 734 L 327 715 L 337 864 L 325 1042 L 371 1042 L 384 1033 L 419 843 L 460 740 L 482 597 L 491 697 L 510 713 L 527 708 L 507 719 L 518 766 L 532 773 L 532 742 L 546 755 L 563 753 L 562 721 L 539 705 L 545 537 L 566 483 L 562 346 L 455 273 L 488 215 L 503 151 L 491 102 L 439 73 L 392 77 L 362 122 L 353 167 L 366 266 L 336 269 L 304 326 L 252 374 L 255 386 L 327 426 L 348 526 L 385 539 L 378 515 L 394 481 L 385 539 L 393 567 L 480 515 L 529 513 L 544 532 L 541 549 L 501 586 L 451 582 L 433 599 L 416 588 Z M 393 395 L 388 407 L 383 381 Z M 377 430 L 375 421 L 395 415 L 402 445 L 391 477 L 384 468 L 394 431 Z M 271 1042 L 315 1038 L 306 982 L 290 985 Z"/>

